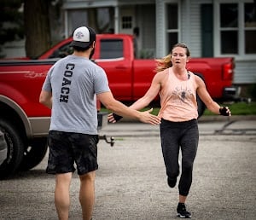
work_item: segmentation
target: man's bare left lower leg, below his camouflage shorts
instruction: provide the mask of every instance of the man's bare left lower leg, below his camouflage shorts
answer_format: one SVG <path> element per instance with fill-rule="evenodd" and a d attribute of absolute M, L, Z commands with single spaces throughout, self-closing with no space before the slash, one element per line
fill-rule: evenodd
<path fill-rule="evenodd" d="M 55 207 L 60 220 L 68 219 L 70 206 L 69 187 L 72 172 L 56 174 L 55 176 Z"/>

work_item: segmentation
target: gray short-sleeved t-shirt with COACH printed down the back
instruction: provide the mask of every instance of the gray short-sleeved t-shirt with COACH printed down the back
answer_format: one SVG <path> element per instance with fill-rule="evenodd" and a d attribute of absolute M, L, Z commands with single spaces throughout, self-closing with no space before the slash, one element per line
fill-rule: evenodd
<path fill-rule="evenodd" d="M 52 92 L 49 130 L 97 134 L 96 94 L 109 91 L 102 67 L 68 55 L 49 69 L 43 90 Z"/>

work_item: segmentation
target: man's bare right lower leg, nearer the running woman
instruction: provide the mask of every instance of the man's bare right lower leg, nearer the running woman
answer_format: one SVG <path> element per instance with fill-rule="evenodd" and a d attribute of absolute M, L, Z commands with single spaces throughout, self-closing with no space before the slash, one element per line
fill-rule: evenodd
<path fill-rule="evenodd" d="M 83 211 L 83 220 L 90 220 L 95 201 L 95 176 L 96 171 L 80 175 L 79 200 Z"/>

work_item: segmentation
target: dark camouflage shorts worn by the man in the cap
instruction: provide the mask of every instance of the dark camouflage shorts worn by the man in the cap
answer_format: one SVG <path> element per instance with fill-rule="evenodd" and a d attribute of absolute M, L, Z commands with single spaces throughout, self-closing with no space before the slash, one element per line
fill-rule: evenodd
<path fill-rule="evenodd" d="M 46 172 L 49 174 L 74 172 L 74 164 L 79 175 L 96 171 L 98 141 L 97 135 L 50 130 Z"/>

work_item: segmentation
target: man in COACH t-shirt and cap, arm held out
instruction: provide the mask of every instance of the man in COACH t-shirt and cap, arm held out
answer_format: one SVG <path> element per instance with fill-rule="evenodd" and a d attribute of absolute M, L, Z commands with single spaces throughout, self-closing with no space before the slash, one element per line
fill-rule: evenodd
<path fill-rule="evenodd" d="M 101 67 L 90 61 L 96 33 L 87 26 L 73 32 L 73 55 L 49 69 L 39 101 L 51 108 L 47 173 L 55 174 L 55 207 L 61 220 L 68 219 L 69 187 L 76 164 L 80 179 L 79 201 L 83 219 L 91 219 L 95 200 L 97 165 L 96 98 L 109 110 L 144 123 L 160 124 L 151 110 L 138 112 L 116 101 Z"/>

